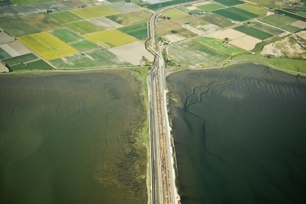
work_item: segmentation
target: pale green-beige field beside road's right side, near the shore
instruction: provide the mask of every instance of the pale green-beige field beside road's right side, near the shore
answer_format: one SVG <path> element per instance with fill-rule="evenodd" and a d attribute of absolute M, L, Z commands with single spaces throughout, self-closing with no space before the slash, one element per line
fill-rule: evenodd
<path fill-rule="evenodd" d="M 171 59 L 173 62 L 180 64 L 181 66 L 185 67 L 205 67 L 207 66 L 204 63 L 204 59 L 188 52 L 187 50 L 172 45 L 166 48 L 167 54 L 169 55 L 168 58 Z"/>

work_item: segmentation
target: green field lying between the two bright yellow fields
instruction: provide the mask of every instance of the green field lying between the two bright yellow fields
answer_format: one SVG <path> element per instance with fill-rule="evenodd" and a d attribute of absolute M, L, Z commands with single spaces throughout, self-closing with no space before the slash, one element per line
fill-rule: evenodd
<path fill-rule="evenodd" d="M 51 32 L 54 36 L 60 40 L 66 42 L 75 49 L 78 49 L 80 52 L 84 52 L 90 49 L 96 49 L 99 46 L 84 39 L 83 37 L 73 33 L 68 29 L 59 29 Z"/>

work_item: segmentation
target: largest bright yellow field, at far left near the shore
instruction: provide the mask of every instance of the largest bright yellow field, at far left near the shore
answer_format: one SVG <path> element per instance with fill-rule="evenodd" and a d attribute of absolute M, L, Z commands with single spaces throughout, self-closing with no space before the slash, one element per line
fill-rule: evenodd
<path fill-rule="evenodd" d="M 72 48 L 48 32 L 25 35 L 17 37 L 17 39 L 46 60 L 79 53 L 77 49 Z"/>

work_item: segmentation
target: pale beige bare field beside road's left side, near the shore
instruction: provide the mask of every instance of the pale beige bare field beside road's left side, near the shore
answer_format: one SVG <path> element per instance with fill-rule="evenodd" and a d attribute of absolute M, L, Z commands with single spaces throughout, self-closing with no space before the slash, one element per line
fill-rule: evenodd
<path fill-rule="evenodd" d="M 154 55 L 148 52 L 144 44 L 140 42 L 132 42 L 108 50 L 133 65 L 140 65 L 143 56 L 150 62 L 154 61 Z"/>

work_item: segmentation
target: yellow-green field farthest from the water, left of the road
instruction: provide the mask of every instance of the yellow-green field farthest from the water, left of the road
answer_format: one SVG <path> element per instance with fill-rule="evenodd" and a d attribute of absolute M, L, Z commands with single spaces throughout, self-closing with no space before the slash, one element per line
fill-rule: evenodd
<path fill-rule="evenodd" d="M 74 13 L 75 15 L 81 16 L 82 18 L 86 19 L 97 18 L 101 16 L 110 16 L 120 13 L 119 11 L 106 5 L 73 9 L 71 10 L 71 12 Z"/>

